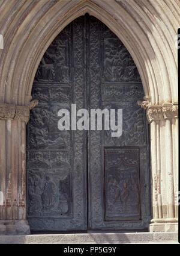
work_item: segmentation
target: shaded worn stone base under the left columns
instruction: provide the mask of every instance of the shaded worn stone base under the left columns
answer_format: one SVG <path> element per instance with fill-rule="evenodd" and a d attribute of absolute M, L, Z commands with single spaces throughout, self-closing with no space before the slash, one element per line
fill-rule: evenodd
<path fill-rule="evenodd" d="M 28 235 L 30 228 L 27 220 L 0 220 L 0 235 Z"/>

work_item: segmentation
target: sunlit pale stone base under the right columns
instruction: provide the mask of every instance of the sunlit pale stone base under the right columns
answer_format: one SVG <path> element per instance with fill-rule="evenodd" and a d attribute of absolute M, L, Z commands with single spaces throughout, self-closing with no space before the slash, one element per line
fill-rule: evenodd
<path fill-rule="evenodd" d="M 149 232 L 178 232 L 178 219 L 152 219 Z"/>

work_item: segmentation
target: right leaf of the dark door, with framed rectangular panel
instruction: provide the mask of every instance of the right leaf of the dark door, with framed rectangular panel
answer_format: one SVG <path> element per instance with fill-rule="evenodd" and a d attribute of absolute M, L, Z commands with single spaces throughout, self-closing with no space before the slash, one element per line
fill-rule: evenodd
<path fill-rule="evenodd" d="M 145 229 L 148 130 L 145 113 L 137 105 L 144 96 L 143 86 L 125 46 L 92 16 L 88 39 L 89 107 L 121 108 L 123 119 L 121 137 L 112 137 L 112 130 L 88 131 L 89 228 Z"/>

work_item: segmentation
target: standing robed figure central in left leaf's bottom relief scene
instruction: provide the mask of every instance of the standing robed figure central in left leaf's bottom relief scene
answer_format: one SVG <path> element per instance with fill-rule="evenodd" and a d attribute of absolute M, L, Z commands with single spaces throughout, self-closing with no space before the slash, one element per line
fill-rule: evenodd
<path fill-rule="evenodd" d="M 44 210 L 48 210 L 55 204 L 55 184 L 50 181 L 49 176 L 46 176 L 46 182 L 44 183 L 43 193 L 41 195 L 41 201 Z"/>

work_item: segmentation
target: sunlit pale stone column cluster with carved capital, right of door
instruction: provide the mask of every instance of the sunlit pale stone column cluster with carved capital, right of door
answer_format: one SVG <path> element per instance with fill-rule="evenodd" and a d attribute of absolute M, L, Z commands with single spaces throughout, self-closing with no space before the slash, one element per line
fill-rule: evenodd
<path fill-rule="evenodd" d="M 146 110 L 151 132 L 149 231 L 178 231 L 178 104 L 138 104 Z"/>

